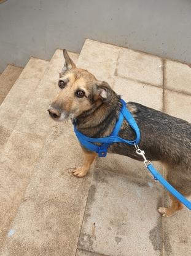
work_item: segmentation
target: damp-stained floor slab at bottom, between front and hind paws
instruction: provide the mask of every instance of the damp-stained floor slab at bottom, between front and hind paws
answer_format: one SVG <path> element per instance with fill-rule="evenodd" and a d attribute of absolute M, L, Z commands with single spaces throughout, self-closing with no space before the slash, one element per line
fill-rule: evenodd
<path fill-rule="evenodd" d="M 109 171 L 94 171 L 79 249 L 111 256 L 161 255 L 162 193 Z"/>

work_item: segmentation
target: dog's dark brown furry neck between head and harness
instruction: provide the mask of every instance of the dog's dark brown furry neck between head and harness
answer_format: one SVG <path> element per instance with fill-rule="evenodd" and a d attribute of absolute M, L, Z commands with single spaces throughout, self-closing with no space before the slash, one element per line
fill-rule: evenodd
<path fill-rule="evenodd" d="M 92 138 L 109 136 L 122 107 L 120 97 L 113 92 L 109 103 L 100 102 L 76 118 L 77 130 Z"/>

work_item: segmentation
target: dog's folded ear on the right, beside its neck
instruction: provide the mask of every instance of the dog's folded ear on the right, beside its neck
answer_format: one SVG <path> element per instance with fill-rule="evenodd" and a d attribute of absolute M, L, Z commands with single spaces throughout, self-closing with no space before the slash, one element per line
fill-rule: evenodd
<path fill-rule="evenodd" d="M 94 93 L 94 100 L 101 99 L 103 102 L 109 103 L 112 100 L 112 89 L 105 81 L 97 81 Z"/>

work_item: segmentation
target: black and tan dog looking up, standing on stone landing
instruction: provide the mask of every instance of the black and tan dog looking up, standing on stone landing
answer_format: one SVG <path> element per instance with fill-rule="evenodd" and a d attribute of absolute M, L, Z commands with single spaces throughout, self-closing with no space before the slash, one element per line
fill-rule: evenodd
<path fill-rule="evenodd" d="M 77 68 L 63 50 L 65 64 L 60 73 L 58 86 L 60 93 L 48 109 L 55 120 L 72 120 L 77 130 L 88 137 L 109 136 L 114 129 L 122 107 L 120 96 L 105 81 L 99 81 L 87 70 Z M 144 149 L 149 160 L 158 160 L 165 165 L 167 180 L 184 196 L 191 194 L 191 124 L 163 112 L 150 109 L 136 102 L 128 102 L 127 108 L 133 115 L 141 132 L 139 147 Z M 119 131 L 124 139 L 135 139 L 134 131 L 124 119 Z M 84 177 L 96 158 L 96 153 L 84 151 L 84 163 L 72 174 Z M 113 143 L 109 153 L 126 155 L 142 160 L 133 146 L 125 143 Z M 163 217 L 170 217 L 182 204 L 170 194 L 171 206 L 159 207 Z"/>

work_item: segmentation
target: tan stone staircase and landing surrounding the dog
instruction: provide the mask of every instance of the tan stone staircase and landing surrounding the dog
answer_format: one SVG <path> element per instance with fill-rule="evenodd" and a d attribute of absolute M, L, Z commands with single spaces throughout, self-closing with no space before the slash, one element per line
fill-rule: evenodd
<path fill-rule="evenodd" d="M 90 39 L 69 55 L 126 101 L 191 122 L 188 65 Z M 166 191 L 142 163 L 110 154 L 71 175 L 82 163 L 72 125 L 47 114 L 63 65 L 59 49 L 32 57 L 0 106 L 0 256 L 190 255 L 189 210 L 162 218 Z"/>

